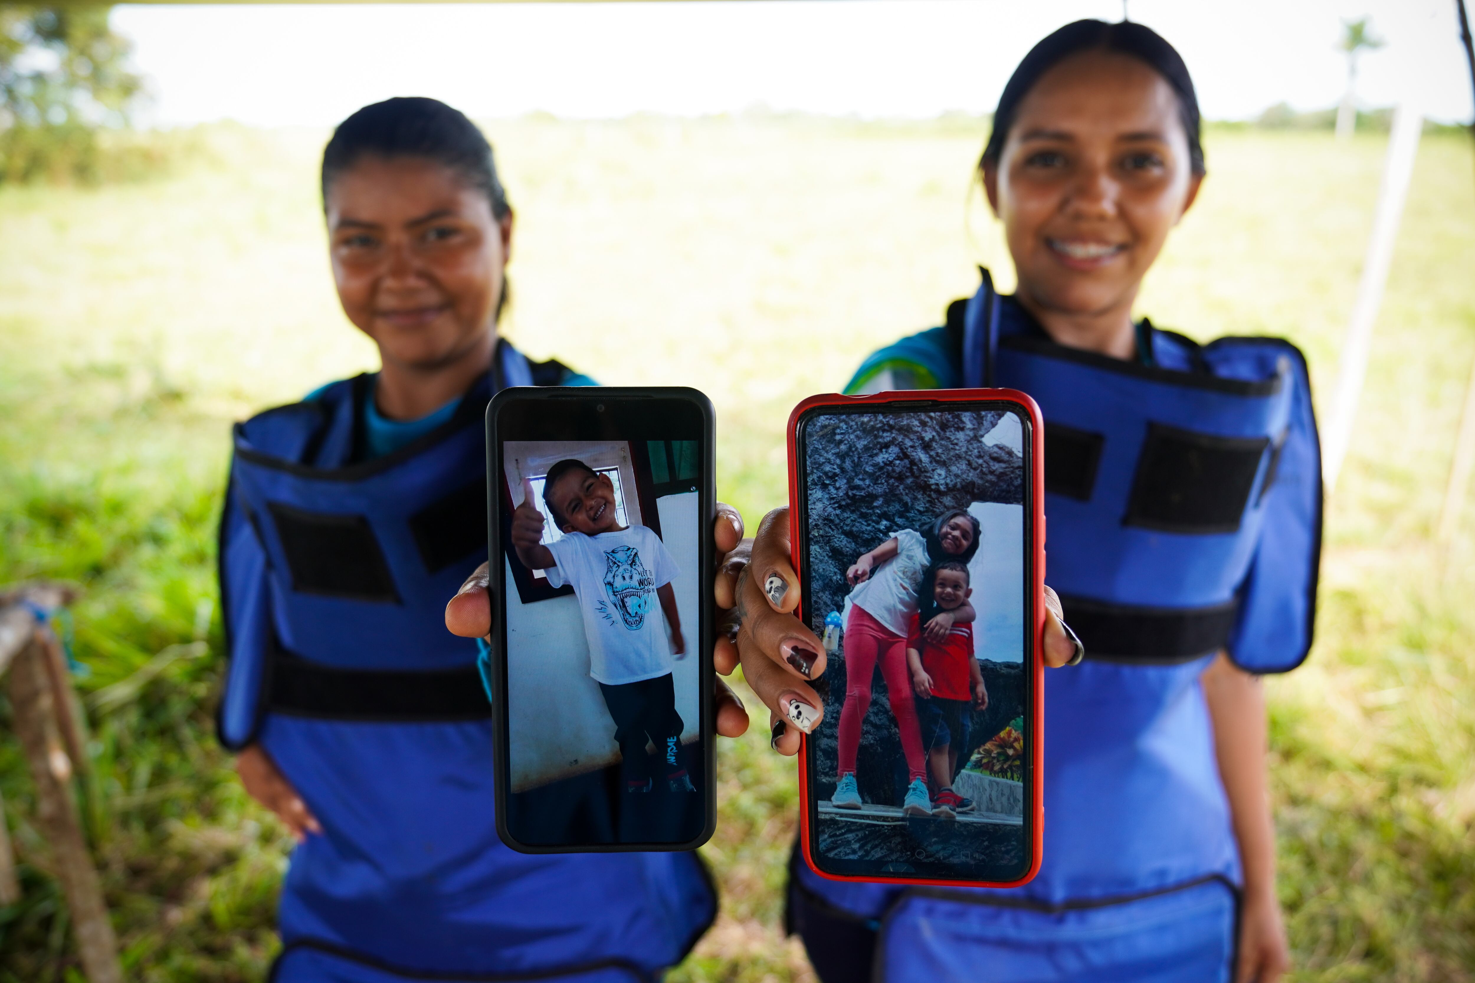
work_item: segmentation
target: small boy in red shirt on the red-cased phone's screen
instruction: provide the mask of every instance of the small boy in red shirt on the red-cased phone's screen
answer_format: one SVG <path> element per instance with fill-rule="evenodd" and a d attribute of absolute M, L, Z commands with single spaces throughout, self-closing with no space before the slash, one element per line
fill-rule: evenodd
<path fill-rule="evenodd" d="M 926 747 L 932 771 L 932 815 L 954 819 L 959 812 L 972 812 L 974 800 L 953 791 L 957 774 L 959 747 L 968 749 L 968 731 L 974 707 L 988 706 L 984 674 L 974 657 L 974 628 L 954 623 L 943 643 L 928 641 L 922 634 L 923 612 L 931 619 L 938 610 L 950 612 L 974 592 L 968 585 L 968 564 L 944 560 L 937 564 L 932 579 L 932 604 L 912 616 L 907 632 L 907 666 L 912 669 L 912 691 L 916 694 L 917 724 L 922 746 Z M 929 607 L 935 610 L 928 610 Z"/>

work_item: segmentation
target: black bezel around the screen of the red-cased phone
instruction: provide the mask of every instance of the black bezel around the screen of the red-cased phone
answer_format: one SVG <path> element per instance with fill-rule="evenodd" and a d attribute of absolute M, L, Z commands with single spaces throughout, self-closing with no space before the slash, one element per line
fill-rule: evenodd
<path fill-rule="evenodd" d="M 1021 447 L 1024 449 L 1024 535 L 1021 548 L 1024 550 L 1024 578 L 1025 578 L 1025 629 L 1027 635 L 1024 640 L 1024 709 L 1025 716 L 1030 719 L 1030 727 L 1027 727 L 1025 749 L 1024 749 L 1024 787 L 1025 787 L 1025 808 L 1024 808 L 1024 822 L 1021 824 L 1021 837 L 1025 843 L 1025 850 L 1021 858 L 1021 868 L 1018 871 L 1009 871 L 1009 877 L 981 877 L 972 872 L 960 872 L 956 868 L 951 871 L 916 871 L 910 874 L 900 872 L 884 872 L 878 870 L 881 862 L 875 861 L 839 861 L 845 864 L 845 870 L 835 870 L 832 864 L 835 858 L 826 858 L 819 849 L 819 799 L 813 794 L 813 786 L 810 786 L 810 794 L 802 796 L 804 808 L 807 811 L 804 828 L 807 831 L 808 843 L 805 844 L 805 853 L 808 862 L 816 868 L 820 875 L 842 878 L 842 880 L 872 880 L 878 883 L 948 883 L 948 884 L 979 884 L 979 886 L 999 886 L 999 884 L 1016 884 L 1025 878 L 1031 870 L 1037 867 L 1037 858 L 1032 850 L 1038 849 L 1038 830 L 1034 828 L 1037 816 L 1030 808 L 1032 800 L 1030 790 L 1035 787 L 1037 783 L 1043 781 L 1043 774 L 1035 769 L 1035 741 L 1041 740 L 1043 735 L 1037 731 L 1043 725 L 1043 719 L 1035 713 L 1037 707 L 1037 675 L 1034 672 L 1034 660 L 1037 656 L 1037 644 L 1028 632 L 1038 623 L 1038 604 L 1040 598 L 1035 595 L 1034 584 L 1037 581 L 1038 572 L 1037 564 L 1040 557 L 1035 553 L 1035 507 L 1037 495 L 1043 494 L 1041 488 L 1035 486 L 1035 461 L 1034 461 L 1034 421 L 1024 405 L 1013 399 L 929 399 L 920 393 L 904 393 L 898 395 L 895 399 L 888 399 L 885 402 L 857 402 L 853 405 L 847 404 L 820 404 L 810 407 L 799 413 L 794 424 L 794 455 L 795 455 L 795 473 L 794 473 L 794 498 L 795 498 L 795 526 L 798 529 L 796 556 L 799 557 L 799 612 L 802 613 L 805 623 L 810 623 L 810 523 L 808 523 L 808 485 L 805 482 L 807 475 L 807 430 L 811 423 L 820 417 L 826 416 L 851 416 L 851 414 L 869 414 L 869 416 L 897 416 L 901 413 L 971 413 L 971 411 L 1007 411 L 1012 413 L 1018 420 L 1022 432 Z M 810 625 L 813 628 L 813 625 Z M 1034 719 L 1031 719 L 1034 718 Z M 816 755 L 819 741 L 805 740 L 804 741 L 804 771 L 802 781 L 808 783 L 810 775 L 816 774 Z M 825 864 L 829 861 L 830 864 Z M 863 870 L 861 865 L 870 864 L 870 870 Z M 854 867 L 850 867 L 854 865 Z"/>

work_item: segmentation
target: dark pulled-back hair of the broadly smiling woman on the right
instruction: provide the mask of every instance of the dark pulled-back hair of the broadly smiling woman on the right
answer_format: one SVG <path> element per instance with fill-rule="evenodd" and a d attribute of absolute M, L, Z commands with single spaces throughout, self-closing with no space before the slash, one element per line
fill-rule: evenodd
<path fill-rule="evenodd" d="M 1009 139 L 1009 128 L 1013 127 L 1015 115 L 1019 112 L 1019 103 L 1046 72 L 1080 52 L 1127 55 L 1162 75 L 1179 97 L 1179 118 L 1183 121 L 1183 133 L 1189 137 L 1189 165 L 1195 174 L 1205 172 L 1204 143 L 1199 139 L 1198 96 L 1193 93 L 1189 66 L 1183 63 L 1183 56 L 1161 34 L 1131 21 L 1120 24 L 1077 21 L 1066 24 L 1030 49 L 999 97 L 999 108 L 994 111 L 994 131 L 988 134 L 988 144 L 984 147 L 979 164 L 999 162 L 1004 140 Z"/>

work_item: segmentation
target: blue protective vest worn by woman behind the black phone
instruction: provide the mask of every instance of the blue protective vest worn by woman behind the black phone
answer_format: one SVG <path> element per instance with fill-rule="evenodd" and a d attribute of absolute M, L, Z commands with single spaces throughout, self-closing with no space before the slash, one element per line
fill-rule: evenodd
<path fill-rule="evenodd" d="M 715 918 L 695 853 L 497 837 L 476 646 L 444 609 L 485 559 L 487 402 L 571 376 L 502 342 L 445 424 L 372 460 L 370 376 L 236 426 L 220 737 L 260 743 L 323 827 L 292 853 L 273 980 L 653 980 Z"/>

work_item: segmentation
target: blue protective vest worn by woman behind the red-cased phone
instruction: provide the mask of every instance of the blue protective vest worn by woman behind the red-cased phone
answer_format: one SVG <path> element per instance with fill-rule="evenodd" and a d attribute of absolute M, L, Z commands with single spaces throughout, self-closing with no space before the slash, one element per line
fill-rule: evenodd
<path fill-rule="evenodd" d="M 1221 648 L 1249 672 L 1305 657 L 1320 448 L 1289 342 L 1139 336 L 1149 364 L 1056 345 L 984 273 L 947 327 L 872 355 L 848 389 L 1034 396 L 1046 582 L 1087 651 L 1046 681 L 1044 858 L 1030 884 L 901 890 L 798 865 L 811 903 L 879 928 L 879 979 L 1232 979 L 1239 858 L 1199 675 Z"/>

